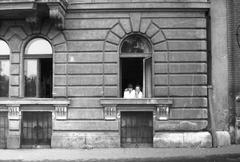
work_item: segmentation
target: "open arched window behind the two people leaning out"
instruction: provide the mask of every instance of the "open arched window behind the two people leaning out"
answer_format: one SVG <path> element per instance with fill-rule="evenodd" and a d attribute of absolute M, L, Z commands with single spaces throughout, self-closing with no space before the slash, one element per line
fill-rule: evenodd
<path fill-rule="evenodd" d="M 123 96 L 129 84 L 139 85 L 143 97 L 152 97 L 152 53 L 149 41 L 140 35 L 127 37 L 120 47 L 120 86 Z"/>

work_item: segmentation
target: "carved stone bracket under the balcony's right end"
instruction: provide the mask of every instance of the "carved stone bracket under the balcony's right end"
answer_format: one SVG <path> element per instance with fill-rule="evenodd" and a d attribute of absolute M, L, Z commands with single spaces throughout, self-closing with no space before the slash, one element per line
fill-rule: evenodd
<path fill-rule="evenodd" d="M 58 3 L 48 4 L 49 17 L 54 20 L 55 27 L 57 29 L 64 29 L 65 23 L 65 9 Z"/>

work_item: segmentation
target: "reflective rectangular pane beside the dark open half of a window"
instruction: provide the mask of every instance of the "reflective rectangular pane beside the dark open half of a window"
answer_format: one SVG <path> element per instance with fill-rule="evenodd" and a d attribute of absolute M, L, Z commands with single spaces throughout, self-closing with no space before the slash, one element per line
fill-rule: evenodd
<path fill-rule="evenodd" d="M 25 60 L 25 97 L 37 96 L 37 60 Z"/>

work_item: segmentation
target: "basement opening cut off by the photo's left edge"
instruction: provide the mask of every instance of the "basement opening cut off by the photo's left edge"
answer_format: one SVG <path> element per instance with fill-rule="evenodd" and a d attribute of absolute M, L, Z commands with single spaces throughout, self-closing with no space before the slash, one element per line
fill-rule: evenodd
<path fill-rule="evenodd" d="M 7 148 L 8 112 L 0 111 L 0 149 Z"/>

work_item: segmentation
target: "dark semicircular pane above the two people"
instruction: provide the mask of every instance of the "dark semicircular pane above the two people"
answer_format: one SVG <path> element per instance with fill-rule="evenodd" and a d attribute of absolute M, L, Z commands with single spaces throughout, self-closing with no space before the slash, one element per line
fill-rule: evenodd
<path fill-rule="evenodd" d="M 150 46 L 146 39 L 134 36 L 123 42 L 121 53 L 150 53 Z"/>

